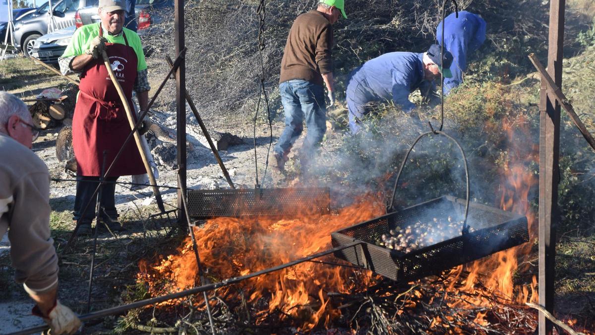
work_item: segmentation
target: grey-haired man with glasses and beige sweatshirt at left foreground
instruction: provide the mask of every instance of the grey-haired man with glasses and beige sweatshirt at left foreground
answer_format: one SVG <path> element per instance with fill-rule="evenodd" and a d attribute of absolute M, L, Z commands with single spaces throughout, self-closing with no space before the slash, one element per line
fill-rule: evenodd
<path fill-rule="evenodd" d="M 81 322 L 57 299 L 58 256 L 49 230 L 49 173 L 32 143 L 39 132 L 29 109 L 0 91 L 0 238 L 8 231 L 15 280 L 35 300 L 33 314 L 51 334 L 73 334 Z"/>

